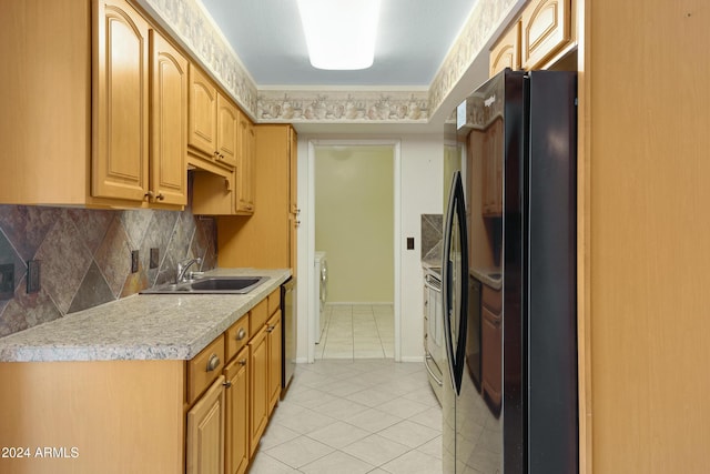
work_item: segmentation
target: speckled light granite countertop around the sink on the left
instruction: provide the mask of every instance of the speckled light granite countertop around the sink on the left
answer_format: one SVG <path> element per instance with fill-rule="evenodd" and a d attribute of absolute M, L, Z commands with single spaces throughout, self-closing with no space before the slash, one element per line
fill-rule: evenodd
<path fill-rule="evenodd" d="M 136 294 L 0 337 L 0 362 L 190 360 L 277 289 L 291 270 L 217 269 L 260 275 L 248 294 Z"/>

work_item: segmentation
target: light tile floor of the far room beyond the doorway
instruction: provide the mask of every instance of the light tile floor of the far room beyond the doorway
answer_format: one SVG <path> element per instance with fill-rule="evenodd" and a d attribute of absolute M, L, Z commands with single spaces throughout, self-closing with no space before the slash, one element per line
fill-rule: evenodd
<path fill-rule="evenodd" d="M 326 304 L 315 359 L 394 357 L 392 304 Z"/>

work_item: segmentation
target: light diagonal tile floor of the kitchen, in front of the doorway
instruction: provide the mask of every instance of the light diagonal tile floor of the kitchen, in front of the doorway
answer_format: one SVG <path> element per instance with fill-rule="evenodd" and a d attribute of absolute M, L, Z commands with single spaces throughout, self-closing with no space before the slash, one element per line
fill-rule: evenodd
<path fill-rule="evenodd" d="M 250 468 L 278 473 L 442 473 L 442 410 L 424 364 L 298 364 Z"/>

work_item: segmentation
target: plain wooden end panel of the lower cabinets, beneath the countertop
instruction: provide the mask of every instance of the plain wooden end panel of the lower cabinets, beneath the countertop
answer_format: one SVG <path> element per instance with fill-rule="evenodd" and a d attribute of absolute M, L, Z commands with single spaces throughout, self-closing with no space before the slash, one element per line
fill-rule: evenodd
<path fill-rule="evenodd" d="M 0 380 L 0 446 L 79 448 L 0 472 L 184 472 L 183 361 L 3 362 Z"/>

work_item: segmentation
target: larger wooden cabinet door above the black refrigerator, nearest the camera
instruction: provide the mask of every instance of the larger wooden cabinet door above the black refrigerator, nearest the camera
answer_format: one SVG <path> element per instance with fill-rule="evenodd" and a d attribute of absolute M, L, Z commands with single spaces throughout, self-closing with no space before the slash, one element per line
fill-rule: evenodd
<path fill-rule="evenodd" d="M 536 0 L 523 12 L 521 65 L 539 67 L 571 40 L 570 0 Z"/>

